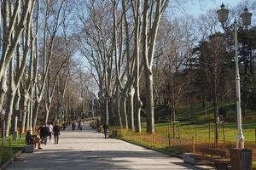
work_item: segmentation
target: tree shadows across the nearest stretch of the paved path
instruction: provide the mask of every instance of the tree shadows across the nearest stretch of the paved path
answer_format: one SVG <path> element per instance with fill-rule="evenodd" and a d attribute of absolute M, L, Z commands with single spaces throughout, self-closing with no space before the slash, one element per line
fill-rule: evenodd
<path fill-rule="evenodd" d="M 161 159 L 168 159 L 165 155 L 151 151 L 123 151 L 123 150 L 42 150 L 31 154 L 22 154 L 20 160 L 10 165 L 10 170 L 107 170 L 107 169 L 132 169 L 133 161 L 139 158 L 152 158 L 154 162 L 148 162 L 147 166 L 156 169 L 160 166 L 155 162 Z M 173 162 L 170 162 L 173 163 Z M 182 162 L 174 162 L 178 165 L 175 169 L 198 169 Z M 167 164 L 168 165 L 168 164 Z M 163 167 L 161 169 L 170 169 Z"/>

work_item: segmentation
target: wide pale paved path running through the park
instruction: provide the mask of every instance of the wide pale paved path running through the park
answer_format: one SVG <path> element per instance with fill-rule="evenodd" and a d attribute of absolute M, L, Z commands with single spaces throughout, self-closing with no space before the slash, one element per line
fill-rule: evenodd
<path fill-rule="evenodd" d="M 119 139 L 104 139 L 88 123 L 84 123 L 82 131 L 61 131 L 59 144 L 52 139 L 42 147 L 43 150 L 21 154 L 7 169 L 209 169 Z"/>

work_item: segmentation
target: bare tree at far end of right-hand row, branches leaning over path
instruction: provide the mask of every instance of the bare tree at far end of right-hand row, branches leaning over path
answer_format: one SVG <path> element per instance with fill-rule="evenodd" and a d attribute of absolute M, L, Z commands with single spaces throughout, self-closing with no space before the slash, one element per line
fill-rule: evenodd
<path fill-rule="evenodd" d="M 84 26 L 78 40 L 80 52 L 96 71 L 95 80 L 99 87 L 104 121 L 113 123 L 113 99 L 115 83 L 113 82 L 113 46 L 111 22 L 108 15 L 109 3 L 103 1 L 86 4 L 89 18 L 79 14 L 79 20 Z M 84 36 L 81 36 L 84 35 Z M 95 75 L 95 74 L 94 74 Z"/>

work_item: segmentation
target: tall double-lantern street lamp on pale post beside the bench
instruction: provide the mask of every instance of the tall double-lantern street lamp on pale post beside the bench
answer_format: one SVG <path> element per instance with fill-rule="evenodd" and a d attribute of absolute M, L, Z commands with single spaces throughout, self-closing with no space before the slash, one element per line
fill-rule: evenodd
<path fill-rule="evenodd" d="M 221 8 L 217 11 L 218 20 L 224 27 L 224 23 L 228 19 L 229 10 L 225 8 L 224 3 L 220 6 Z M 252 20 L 252 13 L 248 12 L 248 9 L 244 9 L 244 13 L 241 14 L 242 24 L 244 26 L 249 26 Z M 241 127 L 241 94 L 240 94 L 240 75 L 239 75 L 239 65 L 238 65 L 238 41 L 237 41 L 237 23 L 234 22 L 235 31 L 235 51 L 236 51 L 236 109 L 237 109 L 237 137 L 236 137 L 236 148 L 244 148 L 244 136 Z"/>

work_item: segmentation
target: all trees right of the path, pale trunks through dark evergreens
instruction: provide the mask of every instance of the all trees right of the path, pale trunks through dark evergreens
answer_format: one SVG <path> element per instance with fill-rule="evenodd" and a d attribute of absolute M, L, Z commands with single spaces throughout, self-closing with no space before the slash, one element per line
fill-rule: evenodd
<path fill-rule="evenodd" d="M 181 103 L 191 105 L 196 100 L 205 107 L 206 101 L 212 101 L 218 142 L 219 103 L 236 99 L 232 28 L 219 32 L 215 9 L 198 18 L 170 20 L 172 11 L 165 13 L 168 3 L 77 3 L 79 52 L 98 86 L 102 119 L 140 132 L 143 114 L 147 132 L 154 133 L 154 105 L 167 105 L 169 119 L 175 121 Z M 168 9 L 177 4 L 170 2 Z M 232 9 L 234 18 L 245 5 Z M 247 2 L 248 8 L 253 6 Z M 239 37 L 242 78 L 250 80 L 242 82 L 250 86 L 242 89 L 247 97 L 244 108 L 254 101 L 255 38 L 250 38 L 254 30 L 241 29 Z"/>

